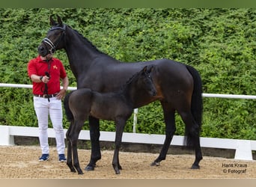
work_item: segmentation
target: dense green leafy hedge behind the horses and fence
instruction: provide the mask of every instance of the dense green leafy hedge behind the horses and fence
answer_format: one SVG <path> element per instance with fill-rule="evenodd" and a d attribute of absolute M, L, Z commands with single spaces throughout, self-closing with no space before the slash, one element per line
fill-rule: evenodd
<path fill-rule="evenodd" d="M 1 83 L 31 84 L 27 63 L 37 56 L 52 14 L 120 61 L 170 58 L 201 73 L 204 93 L 256 95 L 256 10 L 242 8 L 1 8 Z M 58 51 L 55 57 L 64 62 L 70 86 L 76 87 L 65 52 Z M 31 89 L 0 88 L 0 102 L 1 125 L 37 126 Z M 256 140 L 255 106 L 252 99 L 204 98 L 201 136 Z M 132 119 L 126 132 L 132 132 Z M 64 128 L 68 126 L 64 117 Z M 109 121 L 101 121 L 100 128 L 115 131 Z M 165 133 L 159 102 L 138 109 L 137 132 Z M 183 132 L 177 116 L 176 135 Z"/>

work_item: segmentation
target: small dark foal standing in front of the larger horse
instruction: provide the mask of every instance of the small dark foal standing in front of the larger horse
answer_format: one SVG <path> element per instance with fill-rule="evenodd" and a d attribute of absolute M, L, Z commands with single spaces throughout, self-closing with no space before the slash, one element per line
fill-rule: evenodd
<path fill-rule="evenodd" d="M 79 174 L 83 174 L 79 165 L 77 141 L 85 120 L 88 120 L 91 115 L 98 119 L 115 121 L 115 151 L 112 165 L 115 174 L 120 174 L 121 165 L 118 155 L 124 126 L 132 115 L 133 109 L 137 108 L 136 100 L 144 96 L 156 96 L 156 88 L 151 78 L 152 69 L 153 67 L 144 67 L 117 92 L 99 93 L 91 91 L 89 88 L 80 88 L 65 96 L 64 108 L 67 119 L 70 120 L 70 127 L 66 134 L 67 165 L 70 167 L 70 171 L 78 171 Z"/>

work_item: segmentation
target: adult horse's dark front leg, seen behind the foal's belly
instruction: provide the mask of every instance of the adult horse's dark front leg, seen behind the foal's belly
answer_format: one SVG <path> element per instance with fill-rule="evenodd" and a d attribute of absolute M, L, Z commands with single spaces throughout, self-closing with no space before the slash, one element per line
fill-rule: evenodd
<path fill-rule="evenodd" d="M 91 160 L 85 167 L 86 171 L 94 171 L 96 162 L 101 159 L 100 153 L 100 120 L 89 117 L 90 139 L 91 139 Z"/>

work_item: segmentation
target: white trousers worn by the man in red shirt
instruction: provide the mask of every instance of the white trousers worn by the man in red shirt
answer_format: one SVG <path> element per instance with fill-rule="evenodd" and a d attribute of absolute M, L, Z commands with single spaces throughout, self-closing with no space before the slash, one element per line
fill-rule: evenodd
<path fill-rule="evenodd" d="M 39 129 L 39 141 L 42 154 L 49 154 L 48 144 L 48 122 L 49 117 L 52 121 L 53 129 L 55 130 L 56 148 L 58 154 L 64 154 L 65 141 L 63 130 L 63 114 L 61 100 L 55 97 L 48 99 L 34 96 L 34 110 L 37 114 L 38 129 Z"/>

